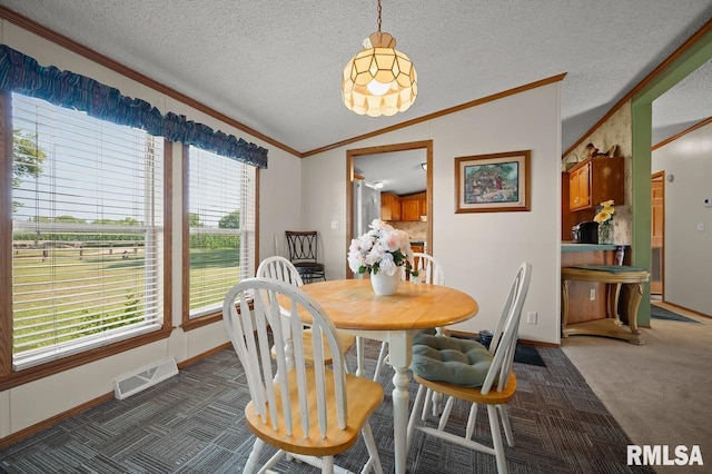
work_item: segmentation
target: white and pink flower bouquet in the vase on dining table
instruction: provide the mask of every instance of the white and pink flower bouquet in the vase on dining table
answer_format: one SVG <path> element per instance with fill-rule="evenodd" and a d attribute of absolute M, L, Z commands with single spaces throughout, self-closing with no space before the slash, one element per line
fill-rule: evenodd
<path fill-rule="evenodd" d="M 348 266 L 353 271 L 376 275 L 383 271 L 393 276 L 397 267 L 413 260 L 411 239 L 404 230 L 398 230 L 379 219 L 374 219 L 363 236 L 352 239 L 348 247 Z"/>

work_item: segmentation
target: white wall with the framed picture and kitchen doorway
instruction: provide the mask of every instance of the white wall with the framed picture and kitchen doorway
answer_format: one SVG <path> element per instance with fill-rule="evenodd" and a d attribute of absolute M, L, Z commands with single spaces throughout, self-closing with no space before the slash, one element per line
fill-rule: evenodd
<path fill-rule="evenodd" d="M 478 315 L 457 326 L 493 328 L 520 264 L 533 266 L 524 312 L 538 324 L 523 324 L 521 337 L 560 339 L 561 85 L 553 83 L 417 124 L 304 159 L 305 228 L 324 240 L 327 278 L 346 275 L 346 150 L 433 140 L 433 255 L 448 286 L 472 295 Z M 364 120 L 370 120 L 364 117 Z M 454 159 L 501 151 L 532 150 L 532 210 L 454 214 Z M 330 221 L 339 228 L 332 230 Z"/>

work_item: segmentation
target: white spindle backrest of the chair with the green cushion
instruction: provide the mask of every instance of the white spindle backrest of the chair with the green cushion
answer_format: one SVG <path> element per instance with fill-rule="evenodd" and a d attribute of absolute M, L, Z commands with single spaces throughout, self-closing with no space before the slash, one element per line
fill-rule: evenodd
<path fill-rule="evenodd" d="M 514 361 L 514 350 L 520 334 L 520 318 L 522 316 L 522 307 L 526 299 L 530 288 L 530 279 L 532 278 L 532 265 L 523 263 L 514 277 L 506 303 L 502 309 L 500 323 L 490 343 L 490 353 L 494 356 L 492 366 L 485 382 L 482 386 L 482 393 L 487 394 L 496 382 L 495 389 L 502 392 L 506 387 L 512 372 L 512 363 Z"/>

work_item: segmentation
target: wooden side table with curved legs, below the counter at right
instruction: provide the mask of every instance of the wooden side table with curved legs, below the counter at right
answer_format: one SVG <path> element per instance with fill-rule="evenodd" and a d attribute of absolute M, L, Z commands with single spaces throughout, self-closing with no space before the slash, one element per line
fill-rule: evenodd
<path fill-rule="evenodd" d="M 640 336 L 637 328 L 637 308 L 643 297 L 643 284 L 647 282 L 650 274 L 641 268 L 613 266 L 613 265 L 582 265 L 578 267 L 564 267 L 561 269 L 562 293 L 562 334 L 564 337 L 573 335 L 591 335 L 614 337 L 642 345 L 645 340 Z M 585 323 L 568 325 L 568 283 L 596 282 L 604 283 L 607 287 L 606 317 Z M 615 285 L 615 287 L 613 287 Z M 627 314 L 626 329 L 619 315 L 619 300 L 621 285 L 626 285 L 629 292 L 625 295 L 625 308 Z"/>

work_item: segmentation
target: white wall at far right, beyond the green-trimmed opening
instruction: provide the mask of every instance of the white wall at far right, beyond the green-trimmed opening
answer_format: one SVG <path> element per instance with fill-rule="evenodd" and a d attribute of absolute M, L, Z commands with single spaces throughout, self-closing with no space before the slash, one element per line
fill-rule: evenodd
<path fill-rule="evenodd" d="M 712 315 L 712 124 L 683 135 L 652 154 L 652 172 L 665 171 L 666 302 Z M 704 230 L 698 230 L 702 224 Z"/>

